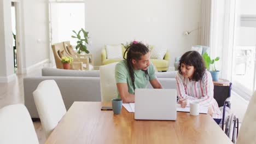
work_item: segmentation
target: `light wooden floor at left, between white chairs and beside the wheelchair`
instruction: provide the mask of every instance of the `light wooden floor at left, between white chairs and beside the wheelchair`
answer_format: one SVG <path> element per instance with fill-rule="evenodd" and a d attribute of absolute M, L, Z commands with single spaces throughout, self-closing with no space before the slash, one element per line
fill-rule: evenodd
<path fill-rule="evenodd" d="M 16 80 L 9 83 L 0 83 L 0 109 L 10 104 L 24 104 L 24 89 L 23 89 L 23 78 L 26 76 L 41 76 L 41 69 L 43 67 L 51 67 L 50 64 L 45 64 L 37 70 L 32 71 L 26 75 L 16 75 Z M 245 115 L 248 101 L 241 98 L 234 92 L 231 93 L 231 111 L 234 112 L 240 122 Z M 39 143 L 45 142 L 45 136 L 40 121 L 33 122 L 34 128 L 39 139 Z"/>

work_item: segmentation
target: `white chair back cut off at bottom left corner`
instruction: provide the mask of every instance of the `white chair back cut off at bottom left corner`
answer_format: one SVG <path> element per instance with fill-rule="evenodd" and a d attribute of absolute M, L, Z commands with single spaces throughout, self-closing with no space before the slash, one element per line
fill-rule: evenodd
<path fill-rule="evenodd" d="M 0 109 L 0 143 L 39 143 L 30 113 L 25 105 L 8 105 Z"/>

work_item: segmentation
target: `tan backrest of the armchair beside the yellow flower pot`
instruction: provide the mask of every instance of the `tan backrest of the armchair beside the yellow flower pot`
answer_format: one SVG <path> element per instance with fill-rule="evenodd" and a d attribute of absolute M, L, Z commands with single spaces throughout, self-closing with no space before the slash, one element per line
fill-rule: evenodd
<path fill-rule="evenodd" d="M 63 69 L 63 64 L 61 63 L 61 56 L 68 56 L 62 43 L 56 43 L 51 45 L 51 48 L 53 49 L 54 53 L 54 59 L 56 63 L 57 69 Z"/>

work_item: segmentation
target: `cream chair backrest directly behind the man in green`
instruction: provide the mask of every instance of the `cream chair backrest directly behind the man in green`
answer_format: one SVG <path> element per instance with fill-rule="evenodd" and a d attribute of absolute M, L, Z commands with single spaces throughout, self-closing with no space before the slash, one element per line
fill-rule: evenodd
<path fill-rule="evenodd" d="M 115 65 L 110 63 L 100 66 L 101 101 L 111 101 L 117 98 L 117 84 L 115 82 Z"/>

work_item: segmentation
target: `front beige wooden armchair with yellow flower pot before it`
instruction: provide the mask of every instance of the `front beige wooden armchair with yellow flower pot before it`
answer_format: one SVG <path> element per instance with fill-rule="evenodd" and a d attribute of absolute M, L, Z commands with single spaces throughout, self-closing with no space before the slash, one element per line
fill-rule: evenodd
<path fill-rule="evenodd" d="M 51 45 L 51 48 L 53 49 L 56 68 L 63 69 L 63 64 L 61 63 L 61 57 L 69 56 L 63 47 L 63 43 L 53 44 L 53 45 Z M 89 69 L 89 58 L 88 57 L 73 58 L 73 59 L 74 59 L 73 64 L 75 64 L 75 65 L 79 64 L 80 65 L 79 67 L 82 67 L 85 70 Z M 71 64 L 71 68 L 73 68 L 72 64 Z"/>

